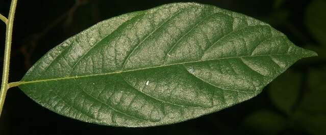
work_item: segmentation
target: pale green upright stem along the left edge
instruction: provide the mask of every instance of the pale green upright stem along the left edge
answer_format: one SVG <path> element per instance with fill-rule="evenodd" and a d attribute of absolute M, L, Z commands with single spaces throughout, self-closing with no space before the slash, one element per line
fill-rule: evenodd
<path fill-rule="evenodd" d="M 17 0 L 12 0 L 8 21 L 7 21 L 4 67 L 3 67 L 2 83 L 1 83 L 1 91 L 0 91 L 0 116 L 5 103 L 7 90 L 9 88 L 8 77 L 9 77 L 9 64 L 10 64 L 10 49 L 11 49 L 12 30 L 14 24 L 16 5 L 17 5 Z"/>

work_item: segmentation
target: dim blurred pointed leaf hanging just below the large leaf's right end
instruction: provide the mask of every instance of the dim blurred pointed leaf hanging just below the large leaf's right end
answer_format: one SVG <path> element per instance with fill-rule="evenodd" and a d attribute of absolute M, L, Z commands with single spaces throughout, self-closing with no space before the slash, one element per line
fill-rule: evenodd
<path fill-rule="evenodd" d="M 301 80 L 302 74 L 290 70 L 279 76 L 268 90 L 271 102 L 281 111 L 290 114 L 298 97 Z"/>

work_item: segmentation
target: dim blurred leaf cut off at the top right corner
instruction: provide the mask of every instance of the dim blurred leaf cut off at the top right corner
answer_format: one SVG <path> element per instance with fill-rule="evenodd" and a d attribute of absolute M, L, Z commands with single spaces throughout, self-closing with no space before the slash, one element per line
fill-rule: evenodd
<path fill-rule="evenodd" d="M 326 45 L 326 2 L 312 1 L 306 10 L 306 25 L 320 44 Z"/>

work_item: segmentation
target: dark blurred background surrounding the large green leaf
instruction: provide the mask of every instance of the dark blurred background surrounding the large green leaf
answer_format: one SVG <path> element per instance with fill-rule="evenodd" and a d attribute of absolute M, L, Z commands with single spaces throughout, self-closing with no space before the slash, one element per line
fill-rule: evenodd
<path fill-rule="evenodd" d="M 99 21 L 181 1 L 18 1 L 10 82 L 19 81 L 43 54 Z M 182 1 L 190 2 L 190 1 Z M 0 134 L 326 134 L 325 1 L 191 1 L 246 14 L 284 32 L 319 56 L 299 60 L 261 94 L 228 109 L 182 123 L 124 128 L 70 119 L 34 103 L 18 88 L 8 91 Z M 7 16 L 9 0 L 0 0 Z M 0 22 L 0 44 L 5 41 Z M 4 45 L 0 58 L 3 60 Z"/>

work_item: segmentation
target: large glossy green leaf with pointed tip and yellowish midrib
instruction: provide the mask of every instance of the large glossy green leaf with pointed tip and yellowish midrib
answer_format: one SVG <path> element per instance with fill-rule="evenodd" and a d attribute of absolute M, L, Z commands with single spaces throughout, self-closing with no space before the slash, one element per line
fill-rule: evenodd
<path fill-rule="evenodd" d="M 252 98 L 296 60 L 315 55 L 245 15 L 175 3 L 69 38 L 37 61 L 19 88 L 81 121 L 164 125 Z"/>

